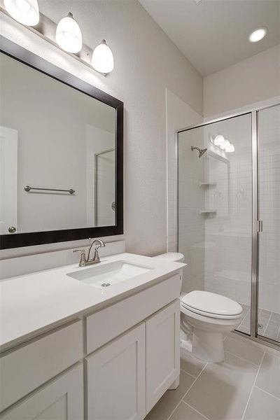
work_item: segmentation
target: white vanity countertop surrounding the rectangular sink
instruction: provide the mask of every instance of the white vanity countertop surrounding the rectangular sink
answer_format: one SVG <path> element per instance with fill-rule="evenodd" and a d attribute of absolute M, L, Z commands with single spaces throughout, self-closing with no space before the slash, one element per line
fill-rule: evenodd
<path fill-rule="evenodd" d="M 20 344 L 76 316 L 102 309 L 185 267 L 180 262 L 130 253 L 102 258 L 98 266 L 116 260 L 152 269 L 109 288 L 94 288 L 67 276 L 69 272 L 89 268 L 78 267 L 78 264 L 3 279 L 0 282 L 0 350 Z"/>

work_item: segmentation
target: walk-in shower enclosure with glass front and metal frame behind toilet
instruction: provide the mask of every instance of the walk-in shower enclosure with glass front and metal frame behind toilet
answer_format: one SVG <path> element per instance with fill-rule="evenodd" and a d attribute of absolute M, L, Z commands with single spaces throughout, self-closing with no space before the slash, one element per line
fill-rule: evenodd
<path fill-rule="evenodd" d="M 280 343 L 280 105 L 179 130 L 183 291 L 244 309 L 241 334 Z"/>

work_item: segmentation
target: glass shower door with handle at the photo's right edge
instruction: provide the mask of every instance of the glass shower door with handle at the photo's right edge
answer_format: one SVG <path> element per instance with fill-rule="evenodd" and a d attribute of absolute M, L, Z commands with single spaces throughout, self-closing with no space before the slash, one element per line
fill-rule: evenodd
<path fill-rule="evenodd" d="M 258 111 L 258 335 L 280 342 L 280 106 Z"/>

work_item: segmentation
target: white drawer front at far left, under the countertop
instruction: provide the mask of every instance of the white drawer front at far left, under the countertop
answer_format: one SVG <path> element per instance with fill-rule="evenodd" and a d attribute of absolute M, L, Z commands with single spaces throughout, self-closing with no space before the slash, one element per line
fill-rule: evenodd
<path fill-rule="evenodd" d="M 78 320 L 0 358 L 0 411 L 83 358 L 83 327 Z"/>

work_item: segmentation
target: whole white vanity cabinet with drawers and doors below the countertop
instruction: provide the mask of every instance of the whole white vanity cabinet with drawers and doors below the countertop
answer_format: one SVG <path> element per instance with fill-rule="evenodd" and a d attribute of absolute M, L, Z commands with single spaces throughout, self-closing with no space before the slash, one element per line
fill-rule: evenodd
<path fill-rule="evenodd" d="M 0 420 L 143 420 L 179 384 L 180 286 L 175 274 L 3 353 Z"/>

